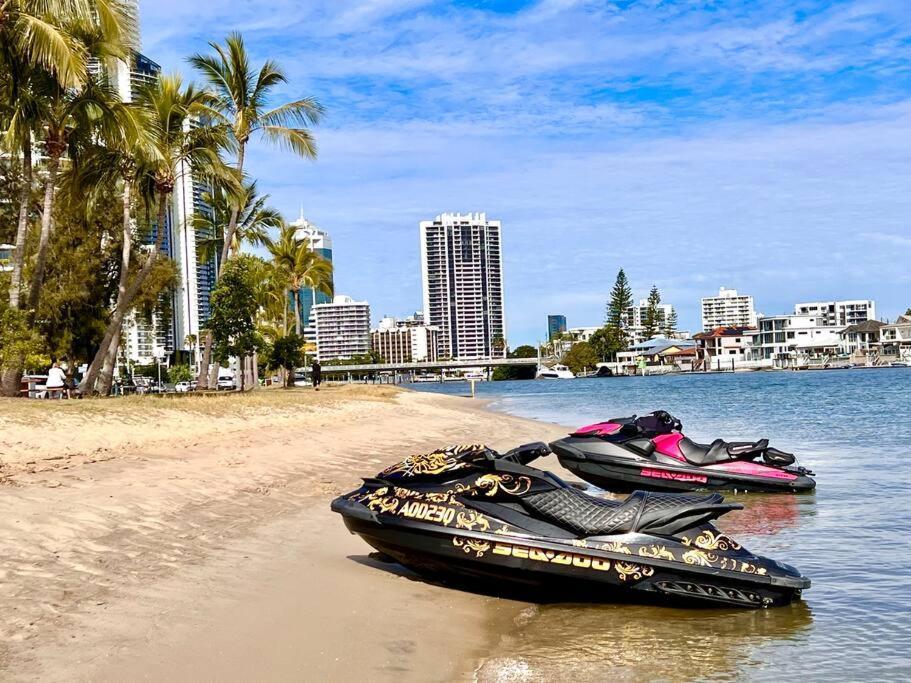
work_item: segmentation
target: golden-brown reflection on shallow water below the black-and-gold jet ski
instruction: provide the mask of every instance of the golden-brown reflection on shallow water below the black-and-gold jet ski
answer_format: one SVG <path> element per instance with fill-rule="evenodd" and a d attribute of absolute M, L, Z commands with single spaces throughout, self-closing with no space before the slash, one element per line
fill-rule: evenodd
<path fill-rule="evenodd" d="M 529 608 L 478 680 L 733 680 L 762 666 L 753 653 L 770 643 L 798 643 L 813 616 L 806 603 L 728 611 L 631 605 Z"/>

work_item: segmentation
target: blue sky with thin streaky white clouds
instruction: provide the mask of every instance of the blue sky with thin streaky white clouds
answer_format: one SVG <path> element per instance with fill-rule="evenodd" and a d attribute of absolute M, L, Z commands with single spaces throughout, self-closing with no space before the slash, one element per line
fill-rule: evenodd
<path fill-rule="evenodd" d="M 503 221 L 510 344 L 597 325 L 617 269 L 698 329 L 720 286 L 911 306 L 911 7 L 898 0 L 142 0 L 144 51 L 240 30 L 326 106 L 320 158 L 257 145 L 332 233 L 341 293 L 421 306 L 418 222 Z"/>

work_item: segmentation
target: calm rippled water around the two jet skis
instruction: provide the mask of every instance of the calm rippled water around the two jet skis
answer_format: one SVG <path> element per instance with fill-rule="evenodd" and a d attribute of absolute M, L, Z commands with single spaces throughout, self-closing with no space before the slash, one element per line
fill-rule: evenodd
<path fill-rule="evenodd" d="M 747 508 L 721 520 L 809 576 L 803 602 L 529 606 L 482 680 L 911 679 L 911 369 L 497 382 L 479 393 L 571 426 L 662 408 L 697 440 L 768 437 L 818 481 L 810 495 L 732 497 Z"/>

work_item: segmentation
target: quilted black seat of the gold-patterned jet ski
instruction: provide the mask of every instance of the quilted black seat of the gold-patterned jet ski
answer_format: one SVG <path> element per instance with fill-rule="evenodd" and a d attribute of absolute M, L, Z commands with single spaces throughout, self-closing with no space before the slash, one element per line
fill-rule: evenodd
<path fill-rule="evenodd" d="M 741 505 L 723 503 L 717 493 L 687 495 L 635 491 L 626 500 L 595 498 L 574 488 L 558 488 L 522 498 L 522 504 L 580 538 L 643 532 L 673 534 L 715 519 Z"/>

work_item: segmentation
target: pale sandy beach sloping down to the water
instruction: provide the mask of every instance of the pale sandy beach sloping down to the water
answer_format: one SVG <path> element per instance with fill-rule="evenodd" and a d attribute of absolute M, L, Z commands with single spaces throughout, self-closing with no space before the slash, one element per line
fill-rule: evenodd
<path fill-rule="evenodd" d="M 388 387 L 0 403 L 0 677 L 470 678 L 524 605 L 381 564 L 329 501 L 562 432 Z"/>

